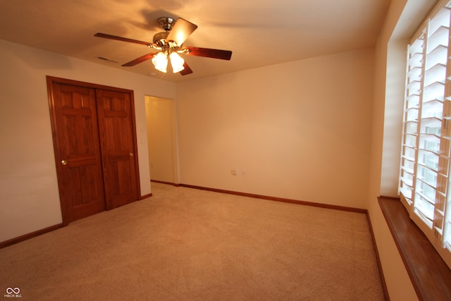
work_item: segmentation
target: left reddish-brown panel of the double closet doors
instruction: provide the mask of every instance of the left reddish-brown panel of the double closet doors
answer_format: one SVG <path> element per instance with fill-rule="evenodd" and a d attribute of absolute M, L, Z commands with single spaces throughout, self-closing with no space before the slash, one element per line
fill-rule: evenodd
<path fill-rule="evenodd" d="M 95 90 L 51 82 L 50 111 L 63 223 L 105 210 Z"/>

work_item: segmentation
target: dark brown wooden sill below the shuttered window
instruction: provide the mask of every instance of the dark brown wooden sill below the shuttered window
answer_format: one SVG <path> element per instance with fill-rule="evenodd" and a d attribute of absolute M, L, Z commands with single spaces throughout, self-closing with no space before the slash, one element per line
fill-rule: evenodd
<path fill-rule="evenodd" d="M 418 226 L 400 199 L 378 197 L 419 300 L 451 300 L 451 270 Z"/>

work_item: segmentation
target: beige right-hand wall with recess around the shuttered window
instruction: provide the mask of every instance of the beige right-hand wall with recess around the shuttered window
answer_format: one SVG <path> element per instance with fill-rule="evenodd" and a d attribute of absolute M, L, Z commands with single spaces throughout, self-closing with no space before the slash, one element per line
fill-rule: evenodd
<path fill-rule="evenodd" d="M 376 44 L 369 215 L 390 300 L 418 300 L 377 202 L 397 196 L 405 56 L 409 37 L 431 9 L 431 0 L 392 0 Z"/>

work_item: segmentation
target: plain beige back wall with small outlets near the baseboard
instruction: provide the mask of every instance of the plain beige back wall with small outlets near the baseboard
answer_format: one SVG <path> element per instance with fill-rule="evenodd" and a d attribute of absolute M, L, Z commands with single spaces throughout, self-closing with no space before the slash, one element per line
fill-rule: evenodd
<path fill-rule="evenodd" d="M 366 208 L 372 89 L 373 49 L 180 83 L 180 182 Z"/>

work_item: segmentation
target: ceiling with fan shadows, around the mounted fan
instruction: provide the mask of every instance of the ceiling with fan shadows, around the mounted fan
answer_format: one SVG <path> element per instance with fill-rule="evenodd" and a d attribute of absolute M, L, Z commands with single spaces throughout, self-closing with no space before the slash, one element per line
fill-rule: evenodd
<path fill-rule="evenodd" d="M 0 39 L 177 82 L 297 61 L 375 44 L 390 0 L 0 0 Z M 194 73 L 160 73 L 143 45 L 94 37 L 96 32 L 152 42 L 159 17 L 198 26 L 187 46 L 233 51 L 230 61 L 183 56 Z M 103 61 L 98 57 L 116 61 Z"/>

